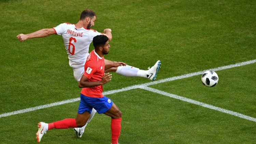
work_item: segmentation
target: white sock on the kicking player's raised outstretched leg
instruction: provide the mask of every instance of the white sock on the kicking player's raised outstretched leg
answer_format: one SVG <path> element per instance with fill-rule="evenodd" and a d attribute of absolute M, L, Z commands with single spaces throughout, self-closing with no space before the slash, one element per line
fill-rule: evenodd
<path fill-rule="evenodd" d="M 116 70 L 117 74 L 126 76 L 126 77 L 147 77 L 148 70 L 140 70 L 137 67 L 133 66 L 118 66 Z"/>

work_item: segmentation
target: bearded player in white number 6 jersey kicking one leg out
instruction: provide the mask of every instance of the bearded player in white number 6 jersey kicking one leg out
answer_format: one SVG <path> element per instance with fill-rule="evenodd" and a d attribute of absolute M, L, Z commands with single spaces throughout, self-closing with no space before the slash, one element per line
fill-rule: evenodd
<path fill-rule="evenodd" d="M 52 29 L 41 29 L 29 34 L 19 34 L 17 38 L 19 41 L 25 41 L 30 38 L 46 37 L 52 34 L 62 35 L 65 48 L 68 53 L 69 65 L 73 68 L 74 78 L 79 82 L 84 74 L 84 64 L 88 56 L 88 50 L 90 43 L 93 41 L 93 37 L 96 35 L 104 34 L 112 39 L 111 29 L 104 29 L 104 33 L 99 33 L 90 29 L 94 26 L 96 20 L 96 14 L 92 10 L 84 10 L 81 13 L 80 20 L 75 24 L 61 23 L 60 25 Z M 155 80 L 157 72 L 160 68 L 160 61 L 158 60 L 155 65 L 148 70 L 141 70 L 139 68 L 126 65 L 123 62 L 115 62 L 105 59 L 105 64 L 117 65 L 114 68 L 105 70 L 105 72 L 116 72 L 123 76 L 129 77 L 145 77 L 150 80 Z M 83 128 L 75 128 L 77 137 L 81 138 L 82 133 L 86 125 L 93 118 L 95 110 L 91 112 L 91 115 Z"/>

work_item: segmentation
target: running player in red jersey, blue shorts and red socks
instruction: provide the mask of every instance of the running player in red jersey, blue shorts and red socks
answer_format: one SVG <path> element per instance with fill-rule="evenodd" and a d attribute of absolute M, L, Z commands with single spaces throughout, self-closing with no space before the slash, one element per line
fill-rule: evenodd
<path fill-rule="evenodd" d="M 117 67 L 120 64 L 104 63 L 104 54 L 109 53 L 109 41 L 105 35 L 97 35 L 93 38 L 95 50 L 91 51 L 85 63 L 85 72 L 79 82 L 81 91 L 81 100 L 79 104 L 78 114 L 76 118 L 67 118 L 53 123 L 40 122 L 38 124 L 37 140 L 41 141 L 44 133 L 47 130 L 56 128 L 75 128 L 82 127 L 87 122 L 91 111 L 97 110 L 99 114 L 104 113 L 111 117 L 111 133 L 112 144 L 118 144 L 118 138 L 121 130 L 122 112 L 117 108 L 113 101 L 105 97 L 103 92 L 103 84 L 111 80 L 111 74 L 104 73 L 112 67 Z"/>

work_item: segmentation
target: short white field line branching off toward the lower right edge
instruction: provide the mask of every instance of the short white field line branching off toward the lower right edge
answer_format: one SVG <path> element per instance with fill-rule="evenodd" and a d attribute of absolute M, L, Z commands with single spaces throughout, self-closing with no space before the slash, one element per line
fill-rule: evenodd
<path fill-rule="evenodd" d="M 154 93 L 157 93 L 157 94 L 169 96 L 171 98 L 179 99 L 179 100 L 186 101 L 186 102 L 189 102 L 189 103 L 194 103 L 195 105 L 199 105 L 199 106 L 202 106 L 202 107 L 205 107 L 205 108 L 213 109 L 213 110 L 220 111 L 220 112 L 223 112 L 223 113 L 238 116 L 238 117 L 247 119 L 249 121 L 256 122 L 256 118 L 254 118 L 254 117 L 250 117 L 250 116 L 247 116 L 247 115 L 244 115 L 244 114 L 241 114 L 241 113 L 237 113 L 237 112 L 233 112 L 233 111 L 230 111 L 230 110 L 226 110 L 226 109 L 223 109 L 223 108 L 215 107 L 215 106 L 209 105 L 207 103 L 203 103 L 203 102 L 200 102 L 200 101 L 196 101 L 196 100 L 189 99 L 189 98 L 182 97 L 182 96 L 175 95 L 175 94 L 170 94 L 170 93 L 160 91 L 160 90 L 157 90 L 157 89 L 153 89 L 153 88 L 147 87 L 147 86 L 141 86 L 140 88 L 143 89 L 143 90 L 147 90 L 147 91 L 151 91 L 151 92 L 154 92 Z"/>

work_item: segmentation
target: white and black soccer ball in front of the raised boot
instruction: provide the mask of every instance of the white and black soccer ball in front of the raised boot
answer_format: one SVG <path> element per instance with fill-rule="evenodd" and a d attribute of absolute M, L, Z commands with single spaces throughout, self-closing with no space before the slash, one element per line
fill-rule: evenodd
<path fill-rule="evenodd" d="M 214 71 L 208 70 L 203 73 L 201 80 L 203 85 L 213 87 L 218 83 L 219 77 Z"/>

